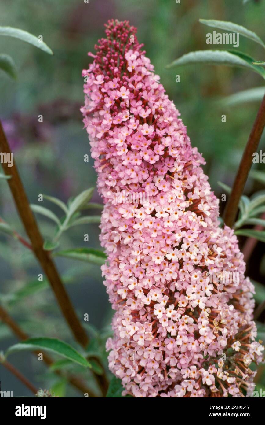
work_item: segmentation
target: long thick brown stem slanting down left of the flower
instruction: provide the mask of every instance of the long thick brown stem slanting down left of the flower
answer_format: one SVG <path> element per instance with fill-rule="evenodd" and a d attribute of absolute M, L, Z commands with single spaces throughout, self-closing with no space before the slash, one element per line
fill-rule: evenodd
<path fill-rule="evenodd" d="M 11 155 L 10 147 L 6 139 L 6 135 L 3 131 L 3 127 L 0 121 L 0 150 L 2 153 Z M 31 246 L 34 254 L 39 260 L 42 269 L 44 270 L 50 284 L 51 288 L 54 291 L 54 295 L 59 303 L 62 314 L 67 321 L 72 334 L 76 341 L 79 342 L 84 348 L 87 347 L 89 339 L 85 330 L 83 329 L 76 312 L 73 308 L 73 305 L 70 301 L 68 293 L 63 286 L 62 280 L 57 272 L 56 266 L 52 261 L 48 251 L 43 249 L 43 238 L 39 232 L 37 222 L 34 218 L 33 212 L 29 206 L 28 198 L 25 193 L 22 181 L 20 179 L 16 162 L 14 161 L 13 167 L 8 167 L 8 164 L 2 164 L 4 173 L 11 178 L 8 179 L 9 188 L 14 198 L 18 213 L 24 224 L 25 231 L 28 235 L 29 240 L 31 241 Z M 101 388 L 103 395 L 107 392 L 108 380 L 107 377 L 103 374 L 101 376 L 94 374 L 96 380 Z"/>

